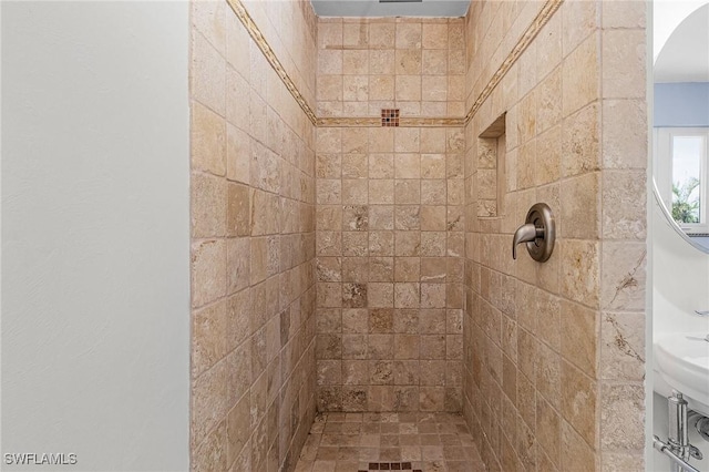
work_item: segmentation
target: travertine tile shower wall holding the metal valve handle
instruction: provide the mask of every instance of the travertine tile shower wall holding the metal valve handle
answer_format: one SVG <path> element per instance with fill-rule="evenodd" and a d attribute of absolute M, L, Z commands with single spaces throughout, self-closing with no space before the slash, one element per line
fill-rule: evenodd
<path fill-rule="evenodd" d="M 544 2 L 473 2 L 467 105 Z M 489 470 L 644 470 L 645 2 L 564 1 L 465 130 L 463 411 Z M 505 116 L 505 192 L 477 217 L 479 136 Z M 514 261 L 535 202 L 552 258 Z"/>

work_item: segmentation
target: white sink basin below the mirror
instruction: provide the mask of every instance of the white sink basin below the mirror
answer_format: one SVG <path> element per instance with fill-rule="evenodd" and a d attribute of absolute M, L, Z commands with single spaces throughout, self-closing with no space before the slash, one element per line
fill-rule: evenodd
<path fill-rule="evenodd" d="M 672 332 L 655 341 L 655 365 L 671 389 L 681 392 L 689 408 L 709 415 L 709 341 L 706 332 Z M 662 389 L 664 390 L 664 389 Z"/>

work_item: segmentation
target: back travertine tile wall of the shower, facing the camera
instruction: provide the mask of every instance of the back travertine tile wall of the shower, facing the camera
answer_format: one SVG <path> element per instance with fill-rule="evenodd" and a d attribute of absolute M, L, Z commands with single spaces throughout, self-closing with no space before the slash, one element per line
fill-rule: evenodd
<path fill-rule="evenodd" d="M 319 114 L 463 115 L 462 19 L 320 19 Z M 322 411 L 460 411 L 461 129 L 319 127 Z"/>

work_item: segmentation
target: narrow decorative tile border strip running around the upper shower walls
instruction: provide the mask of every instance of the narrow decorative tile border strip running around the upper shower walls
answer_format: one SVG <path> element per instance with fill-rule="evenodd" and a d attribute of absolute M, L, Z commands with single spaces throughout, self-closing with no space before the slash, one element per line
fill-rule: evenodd
<path fill-rule="evenodd" d="M 296 83 L 290 79 L 288 72 L 284 69 L 282 64 L 276 57 L 276 53 L 271 49 L 268 41 L 264 37 L 264 33 L 258 29 L 254 19 L 246 11 L 246 7 L 242 3 L 242 0 L 226 0 L 226 2 L 232 7 L 232 10 L 236 14 L 236 17 L 242 21 L 246 31 L 248 31 L 249 35 L 258 45 L 258 49 L 261 50 L 264 57 L 270 64 L 270 66 L 276 71 L 280 80 L 288 89 L 288 92 L 296 100 L 300 109 L 304 111 L 306 116 L 310 120 L 310 122 L 316 126 L 323 127 L 332 127 L 332 126 L 342 126 L 342 127 L 376 127 L 381 126 L 381 117 L 351 117 L 351 116 L 332 116 L 332 117 L 317 117 L 305 96 L 300 93 Z M 512 65 L 520 59 L 522 53 L 527 49 L 527 47 L 532 43 L 534 38 L 542 31 L 542 28 L 549 21 L 552 16 L 558 10 L 558 8 L 564 3 L 564 0 L 547 0 L 542 7 L 542 10 L 534 18 L 532 23 L 524 31 L 517 43 L 512 48 L 512 51 L 507 54 L 505 60 L 500 64 L 500 68 L 495 71 L 493 76 L 490 79 L 485 88 L 480 92 L 477 99 L 470 107 L 467 114 L 463 117 L 404 117 L 401 116 L 399 119 L 400 127 L 412 127 L 412 126 L 423 126 L 423 127 L 460 127 L 466 125 L 477 113 L 482 104 L 490 98 L 490 94 L 493 90 L 500 84 L 500 81 L 505 76 L 505 74 L 512 69 Z"/>

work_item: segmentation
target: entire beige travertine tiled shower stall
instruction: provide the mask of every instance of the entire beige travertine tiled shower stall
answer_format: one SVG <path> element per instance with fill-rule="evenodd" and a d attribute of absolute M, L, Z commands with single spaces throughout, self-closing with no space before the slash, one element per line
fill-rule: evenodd
<path fill-rule="evenodd" d="M 643 2 L 194 2 L 191 61 L 194 470 L 368 419 L 394 462 L 450 419 L 489 470 L 643 470 Z M 536 202 L 556 248 L 514 261 Z"/>

